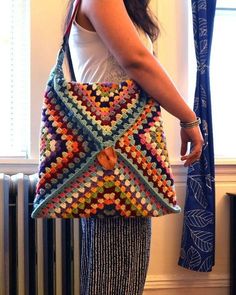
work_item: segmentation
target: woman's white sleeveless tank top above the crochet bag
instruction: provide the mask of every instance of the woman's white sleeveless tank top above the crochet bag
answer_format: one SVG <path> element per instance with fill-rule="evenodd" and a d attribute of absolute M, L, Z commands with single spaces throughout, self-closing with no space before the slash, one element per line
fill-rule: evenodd
<path fill-rule="evenodd" d="M 144 46 L 153 53 L 149 36 L 142 30 L 137 31 Z M 75 20 L 71 27 L 69 46 L 76 81 L 119 83 L 129 79 L 99 35 L 81 27 Z"/>

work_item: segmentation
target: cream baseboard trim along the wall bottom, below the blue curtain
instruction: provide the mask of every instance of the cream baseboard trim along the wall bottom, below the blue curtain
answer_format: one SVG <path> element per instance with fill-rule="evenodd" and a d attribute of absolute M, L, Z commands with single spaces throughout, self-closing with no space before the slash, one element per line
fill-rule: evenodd
<path fill-rule="evenodd" d="M 202 275 L 202 273 L 201 273 Z M 228 275 L 204 273 L 205 277 L 186 275 L 148 275 L 145 290 L 183 288 L 225 288 L 230 286 Z"/>

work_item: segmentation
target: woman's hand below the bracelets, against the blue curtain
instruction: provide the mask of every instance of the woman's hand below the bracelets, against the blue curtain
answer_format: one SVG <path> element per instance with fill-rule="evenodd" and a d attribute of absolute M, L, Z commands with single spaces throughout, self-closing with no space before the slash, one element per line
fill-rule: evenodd
<path fill-rule="evenodd" d="M 199 126 L 192 128 L 181 128 L 180 136 L 181 160 L 185 161 L 184 166 L 187 167 L 200 159 L 204 140 Z M 192 143 L 193 148 L 191 152 L 186 155 L 188 142 Z"/>

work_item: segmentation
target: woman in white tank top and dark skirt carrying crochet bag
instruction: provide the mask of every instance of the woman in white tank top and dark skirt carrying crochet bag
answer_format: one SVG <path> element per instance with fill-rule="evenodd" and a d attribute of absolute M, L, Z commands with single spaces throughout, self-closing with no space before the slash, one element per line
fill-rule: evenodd
<path fill-rule="evenodd" d="M 75 2 L 69 3 L 67 20 Z M 199 159 L 203 139 L 195 113 L 153 56 L 152 41 L 159 29 L 148 2 L 81 0 L 68 58 L 77 81 L 119 83 L 131 78 L 158 98 L 163 108 L 184 122 L 181 160 L 189 166 Z M 193 149 L 186 154 L 188 142 Z M 142 294 L 150 240 L 150 218 L 81 219 L 81 295 Z"/>

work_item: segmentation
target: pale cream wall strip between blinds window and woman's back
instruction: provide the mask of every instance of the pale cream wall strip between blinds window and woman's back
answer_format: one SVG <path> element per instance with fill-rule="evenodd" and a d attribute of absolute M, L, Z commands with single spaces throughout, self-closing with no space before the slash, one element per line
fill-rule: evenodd
<path fill-rule="evenodd" d="M 40 112 L 44 89 L 61 44 L 66 0 L 31 1 L 31 158 L 38 158 Z"/>

